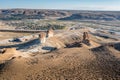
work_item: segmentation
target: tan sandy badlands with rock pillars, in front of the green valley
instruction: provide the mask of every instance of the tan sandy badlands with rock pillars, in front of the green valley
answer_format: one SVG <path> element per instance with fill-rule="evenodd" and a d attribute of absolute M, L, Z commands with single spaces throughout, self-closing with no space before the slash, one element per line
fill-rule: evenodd
<path fill-rule="evenodd" d="M 0 80 L 119 80 L 119 34 L 71 28 L 1 32 Z"/>

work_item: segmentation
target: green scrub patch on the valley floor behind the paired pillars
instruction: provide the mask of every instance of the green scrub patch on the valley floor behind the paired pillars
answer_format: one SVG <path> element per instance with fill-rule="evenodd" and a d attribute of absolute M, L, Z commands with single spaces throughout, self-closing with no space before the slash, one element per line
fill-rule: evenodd
<path fill-rule="evenodd" d="M 20 20 L 9 21 L 7 25 L 16 27 L 15 29 L 27 29 L 27 30 L 46 30 L 52 27 L 53 29 L 65 29 L 67 25 L 56 21 L 41 21 L 41 20 Z"/>

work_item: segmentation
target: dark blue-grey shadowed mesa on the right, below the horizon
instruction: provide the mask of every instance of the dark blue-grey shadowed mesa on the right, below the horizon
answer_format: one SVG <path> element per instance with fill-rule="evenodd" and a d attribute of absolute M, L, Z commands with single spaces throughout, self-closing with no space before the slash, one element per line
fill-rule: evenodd
<path fill-rule="evenodd" d="M 59 20 L 120 20 L 120 12 L 80 12 L 74 13 L 69 17 L 60 18 Z"/>

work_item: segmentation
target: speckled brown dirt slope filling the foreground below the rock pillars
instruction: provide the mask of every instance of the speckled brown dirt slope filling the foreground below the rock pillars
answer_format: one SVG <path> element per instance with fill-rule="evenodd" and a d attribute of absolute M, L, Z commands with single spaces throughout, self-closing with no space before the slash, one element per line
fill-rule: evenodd
<path fill-rule="evenodd" d="M 106 46 L 91 50 L 81 47 L 36 53 L 31 58 L 15 58 L 6 63 L 1 69 L 0 79 L 119 80 L 119 56 L 119 51 Z"/>

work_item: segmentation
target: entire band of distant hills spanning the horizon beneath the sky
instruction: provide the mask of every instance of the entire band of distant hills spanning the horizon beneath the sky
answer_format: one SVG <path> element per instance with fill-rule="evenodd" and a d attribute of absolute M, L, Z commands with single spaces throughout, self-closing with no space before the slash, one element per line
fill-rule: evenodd
<path fill-rule="evenodd" d="M 0 20 L 59 19 L 59 20 L 120 20 L 119 11 L 81 11 L 44 9 L 1 9 Z"/>

